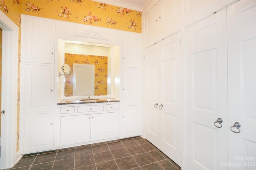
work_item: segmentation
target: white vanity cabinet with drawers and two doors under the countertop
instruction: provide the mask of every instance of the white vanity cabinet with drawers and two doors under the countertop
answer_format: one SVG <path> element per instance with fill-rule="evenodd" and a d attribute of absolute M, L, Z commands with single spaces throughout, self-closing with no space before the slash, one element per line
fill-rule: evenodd
<path fill-rule="evenodd" d="M 119 102 L 58 105 L 58 147 L 119 137 Z"/>

